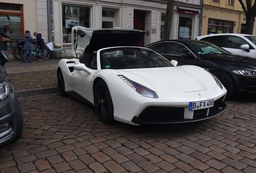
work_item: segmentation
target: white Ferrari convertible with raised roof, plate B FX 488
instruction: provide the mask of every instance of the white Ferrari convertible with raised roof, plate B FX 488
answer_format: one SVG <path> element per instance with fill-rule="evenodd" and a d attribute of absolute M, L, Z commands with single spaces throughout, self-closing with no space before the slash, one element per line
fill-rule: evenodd
<path fill-rule="evenodd" d="M 80 59 L 59 61 L 60 95 L 93 105 L 103 123 L 192 122 L 227 108 L 227 90 L 210 72 L 198 66 L 178 67 L 175 60 L 137 47 L 145 31 L 89 28 L 87 34 L 87 28 L 76 26 L 72 33 L 74 55 L 85 51 Z"/>

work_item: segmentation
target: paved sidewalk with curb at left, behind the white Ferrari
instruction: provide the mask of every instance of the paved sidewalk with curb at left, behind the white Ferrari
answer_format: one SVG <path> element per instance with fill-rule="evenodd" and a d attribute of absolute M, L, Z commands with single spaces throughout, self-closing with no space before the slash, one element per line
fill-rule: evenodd
<path fill-rule="evenodd" d="M 6 62 L 4 67 L 13 82 L 16 97 L 58 93 L 56 69 L 60 59 L 50 57 L 38 62 L 33 58 L 32 63 L 10 59 L 11 62 Z"/>

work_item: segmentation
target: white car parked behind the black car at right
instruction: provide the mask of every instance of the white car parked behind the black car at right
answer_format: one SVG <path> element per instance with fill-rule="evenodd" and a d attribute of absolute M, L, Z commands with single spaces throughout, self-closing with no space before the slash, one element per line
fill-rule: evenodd
<path fill-rule="evenodd" d="M 197 36 L 196 40 L 211 42 L 232 54 L 256 58 L 256 36 L 248 34 L 210 34 Z"/>

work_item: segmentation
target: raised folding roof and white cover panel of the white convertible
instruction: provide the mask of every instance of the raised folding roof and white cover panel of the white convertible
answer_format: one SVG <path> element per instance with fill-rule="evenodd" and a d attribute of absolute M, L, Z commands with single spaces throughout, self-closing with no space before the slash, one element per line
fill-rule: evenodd
<path fill-rule="evenodd" d="M 75 26 L 72 28 L 72 55 L 77 57 L 76 54 L 91 53 L 107 47 L 138 46 L 145 34 L 145 31 L 134 29 Z"/>

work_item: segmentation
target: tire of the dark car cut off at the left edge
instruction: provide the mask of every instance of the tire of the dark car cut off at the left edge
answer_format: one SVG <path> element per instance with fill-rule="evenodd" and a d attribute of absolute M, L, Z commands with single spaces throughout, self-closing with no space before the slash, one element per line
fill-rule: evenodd
<path fill-rule="evenodd" d="M 12 142 L 15 142 L 21 138 L 23 133 L 23 113 L 21 105 L 17 98 L 15 98 L 15 113 L 16 113 L 16 134 Z"/>

